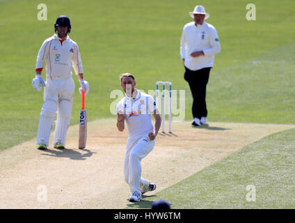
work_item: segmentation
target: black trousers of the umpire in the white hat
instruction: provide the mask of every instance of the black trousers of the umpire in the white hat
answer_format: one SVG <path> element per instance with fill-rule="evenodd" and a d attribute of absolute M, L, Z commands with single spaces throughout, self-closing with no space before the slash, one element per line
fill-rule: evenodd
<path fill-rule="evenodd" d="M 202 68 L 195 71 L 189 70 L 185 66 L 184 68 L 184 79 L 189 82 L 191 95 L 193 95 L 193 118 L 207 117 L 206 86 L 211 68 Z"/>

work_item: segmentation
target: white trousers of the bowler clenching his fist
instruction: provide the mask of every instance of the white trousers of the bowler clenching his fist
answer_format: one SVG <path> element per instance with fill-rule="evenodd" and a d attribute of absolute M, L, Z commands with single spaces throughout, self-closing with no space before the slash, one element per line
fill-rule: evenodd
<path fill-rule="evenodd" d="M 130 186 L 131 193 L 147 192 L 150 181 L 141 178 L 141 160 L 154 148 L 155 140 L 148 136 L 136 140 L 129 140 L 126 146 L 124 160 L 124 176 L 126 183 Z"/>

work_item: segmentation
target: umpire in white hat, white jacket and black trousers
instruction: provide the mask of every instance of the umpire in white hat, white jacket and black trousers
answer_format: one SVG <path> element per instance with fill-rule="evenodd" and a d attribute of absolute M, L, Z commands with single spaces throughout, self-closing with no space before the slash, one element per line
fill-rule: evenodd
<path fill-rule="evenodd" d="M 189 15 L 193 22 L 184 26 L 180 39 L 180 56 L 184 63 L 184 79 L 189 82 L 193 95 L 193 123 L 200 126 L 207 122 L 206 86 L 214 57 L 221 52 L 217 31 L 205 22 L 209 13 L 204 6 L 196 6 Z"/>

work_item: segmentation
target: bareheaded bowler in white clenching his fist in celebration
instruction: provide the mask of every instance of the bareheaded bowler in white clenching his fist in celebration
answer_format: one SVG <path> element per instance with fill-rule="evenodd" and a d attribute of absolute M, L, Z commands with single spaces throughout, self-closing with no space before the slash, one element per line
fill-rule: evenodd
<path fill-rule="evenodd" d="M 118 103 L 117 128 L 120 132 L 128 127 L 128 142 L 124 160 L 125 181 L 129 184 L 130 202 L 141 201 L 141 195 L 156 189 L 154 183 L 141 177 L 141 160 L 152 151 L 155 139 L 161 127 L 154 98 L 137 89 L 134 75 L 125 73 L 120 75 L 121 86 L 125 91 L 125 98 Z M 151 116 L 155 119 L 154 128 Z"/>

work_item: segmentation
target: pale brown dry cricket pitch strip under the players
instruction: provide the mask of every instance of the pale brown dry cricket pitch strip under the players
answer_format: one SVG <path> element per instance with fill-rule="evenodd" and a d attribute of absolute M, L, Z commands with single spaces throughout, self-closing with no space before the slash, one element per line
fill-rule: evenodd
<path fill-rule="evenodd" d="M 2 151 L 0 208 L 125 208 L 130 196 L 123 176 L 127 130 L 119 132 L 115 123 L 115 118 L 88 122 L 83 150 L 78 148 L 79 125 L 74 125 L 63 150 L 51 145 L 38 151 L 32 139 Z M 209 122 L 193 128 L 189 121 L 173 122 L 173 134 L 160 132 L 153 151 L 142 160 L 142 176 L 157 184 L 157 190 L 145 195 L 289 128 L 294 125 Z"/>

